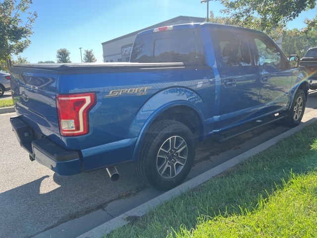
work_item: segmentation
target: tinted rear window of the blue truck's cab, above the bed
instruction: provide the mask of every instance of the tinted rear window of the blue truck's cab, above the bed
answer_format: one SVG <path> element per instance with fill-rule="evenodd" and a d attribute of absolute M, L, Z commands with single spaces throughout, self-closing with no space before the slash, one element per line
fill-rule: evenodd
<path fill-rule="evenodd" d="M 200 32 L 186 29 L 141 35 L 134 42 L 131 62 L 205 64 Z"/>

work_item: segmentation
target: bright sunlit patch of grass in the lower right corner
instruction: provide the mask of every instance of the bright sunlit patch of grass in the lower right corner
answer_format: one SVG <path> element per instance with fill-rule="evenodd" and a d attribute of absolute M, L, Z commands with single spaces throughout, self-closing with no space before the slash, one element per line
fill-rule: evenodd
<path fill-rule="evenodd" d="M 317 172 L 291 173 L 283 188 L 260 199 L 256 209 L 241 209 L 239 215 L 202 217 L 197 228 L 181 228 L 175 237 L 316 237 Z"/>

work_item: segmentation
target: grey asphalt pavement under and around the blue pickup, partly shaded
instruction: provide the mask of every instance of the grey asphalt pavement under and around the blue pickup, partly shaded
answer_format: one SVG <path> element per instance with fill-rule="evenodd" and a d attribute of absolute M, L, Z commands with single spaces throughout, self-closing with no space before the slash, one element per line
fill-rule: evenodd
<path fill-rule="evenodd" d="M 311 92 L 305 116 L 313 117 L 316 107 Z M 0 115 L 0 237 L 75 238 L 162 194 L 145 187 L 129 163 L 117 167 L 121 177 L 112 182 L 106 170 L 62 177 L 30 162 L 10 128 L 14 115 Z M 226 143 L 199 143 L 186 181 L 289 129 L 270 124 Z"/>

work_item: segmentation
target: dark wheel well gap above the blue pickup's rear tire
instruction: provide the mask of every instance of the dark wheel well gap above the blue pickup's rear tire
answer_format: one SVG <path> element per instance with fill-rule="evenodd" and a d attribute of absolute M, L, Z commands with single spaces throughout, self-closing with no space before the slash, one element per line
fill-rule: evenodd
<path fill-rule="evenodd" d="M 186 106 L 176 106 L 164 111 L 154 122 L 159 120 L 175 120 L 185 124 L 194 134 L 199 137 L 203 134 L 203 124 L 198 113 Z"/>

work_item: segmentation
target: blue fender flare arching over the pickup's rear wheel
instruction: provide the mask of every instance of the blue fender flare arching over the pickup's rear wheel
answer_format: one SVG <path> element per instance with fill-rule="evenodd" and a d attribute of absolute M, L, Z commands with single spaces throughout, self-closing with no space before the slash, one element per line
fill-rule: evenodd
<path fill-rule="evenodd" d="M 169 95 L 166 97 L 166 95 Z M 149 127 L 155 119 L 157 119 L 164 111 L 176 107 L 186 106 L 193 109 L 199 115 L 203 131 L 206 130 L 204 123 L 204 112 L 206 112 L 206 104 L 201 97 L 187 88 L 169 88 L 151 97 L 139 110 L 131 125 L 131 131 L 137 132 L 137 141 L 134 148 L 132 162 L 136 162 L 142 146 L 143 139 Z"/>

